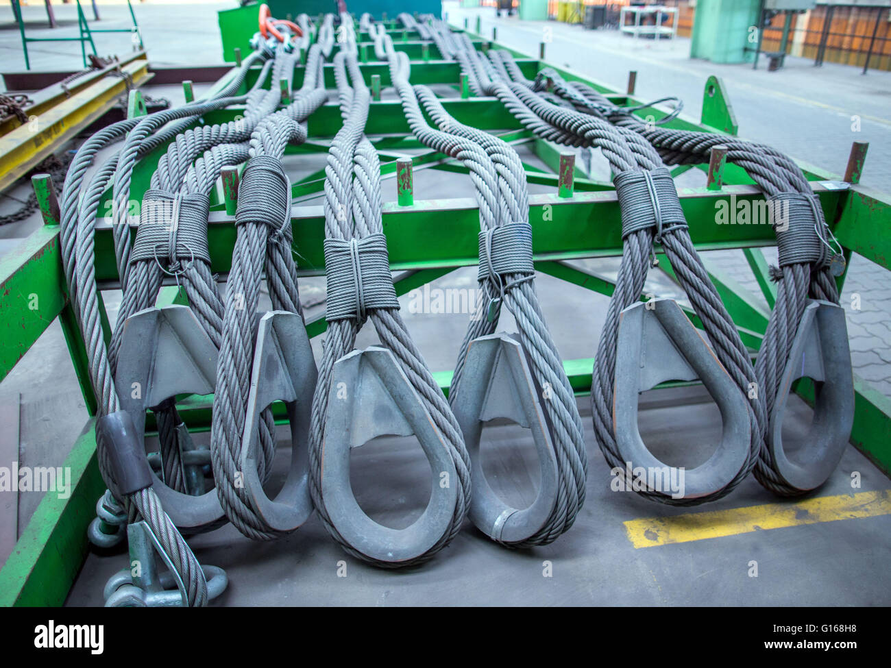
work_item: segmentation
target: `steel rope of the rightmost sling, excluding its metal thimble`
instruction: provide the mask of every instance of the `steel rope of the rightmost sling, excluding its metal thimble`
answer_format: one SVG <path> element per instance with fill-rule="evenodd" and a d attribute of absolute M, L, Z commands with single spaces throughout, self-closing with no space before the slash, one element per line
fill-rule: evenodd
<path fill-rule="evenodd" d="M 590 86 L 574 83 L 588 100 L 602 103 L 605 98 Z M 609 101 L 607 101 L 609 102 Z M 838 287 L 827 267 L 832 251 L 826 239 L 831 238 L 822 208 L 813 195 L 804 173 L 792 159 L 772 147 L 741 141 L 720 134 L 654 128 L 639 118 L 626 117 L 621 122 L 634 127 L 647 137 L 668 164 L 702 164 L 708 161 L 712 147 L 728 147 L 727 159 L 746 169 L 769 201 L 785 202 L 787 220 L 772 221 L 777 231 L 780 266 L 772 267 L 772 280 L 777 284 L 777 297 L 756 358 L 757 387 L 764 414 L 771 415 L 778 401 L 783 371 L 807 299 L 815 298 L 838 304 Z M 766 417 L 764 418 L 766 425 Z M 767 431 L 759 448 L 755 477 L 761 485 L 781 496 L 797 496 L 810 490 L 790 485 L 777 468 L 770 450 L 772 434 Z"/>

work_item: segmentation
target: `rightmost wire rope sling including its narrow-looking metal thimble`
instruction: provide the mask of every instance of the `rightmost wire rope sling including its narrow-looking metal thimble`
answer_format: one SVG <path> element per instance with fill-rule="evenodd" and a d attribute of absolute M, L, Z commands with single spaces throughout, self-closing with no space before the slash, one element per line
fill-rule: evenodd
<path fill-rule="evenodd" d="M 756 391 L 768 423 L 755 477 L 772 492 L 796 496 L 822 485 L 838 466 L 854 422 L 854 385 L 844 310 L 835 277 L 845 270 L 842 248 L 826 224 L 820 201 L 801 168 L 760 143 L 648 125 L 580 82 L 555 73 L 557 93 L 642 134 L 668 165 L 705 163 L 713 147 L 743 167 L 767 198 L 776 233 L 778 267 L 770 268 L 776 297 L 756 359 Z M 813 420 L 797 452 L 783 444 L 782 426 L 792 384 L 814 381 Z"/>

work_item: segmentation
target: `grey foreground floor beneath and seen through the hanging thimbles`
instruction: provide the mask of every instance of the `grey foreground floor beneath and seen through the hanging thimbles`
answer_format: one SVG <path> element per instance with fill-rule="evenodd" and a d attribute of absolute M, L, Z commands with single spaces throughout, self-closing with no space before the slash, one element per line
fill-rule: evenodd
<path fill-rule="evenodd" d="M 413 330 L 414 333 L 414 330 Z M 643 403 L 641 433 L 654 452 L 683 450 L 699 460 L 720 429 L 720 417 L 701 393 L 675 391 Z M 317 516 L 294 534 L 251 542 L 231 525 L 191 540 L 202 564 L 222 566 L 229 587 L 215 606 L 887 606 L 891 604 L 891 515 L 756 531 L 723 538 L 635 548 L 625 522 L 687 516 L 777 501 L 748 477 L 728 497 L 701 509 L 672 509 L 634 493 L 613 492 L 609 468 L 595 445 L 588 400 L 579 402 L 588 444 L 587 500 L 576 524 L 556 542 L 507 550 L 470 522 L 429 563 L 399 571 L 348 557 Z M 790 426 L 801 428 L 809 410 L 795 402 Z M 487 427 L 484 467 L 496 491 L 519 486 L 506 499 L 530 502 L 537 488 L 535 457 L 520 449 L 516 428 Z M 700 440 L 701 439 L 701 440 Z M 366 450 L 367 449 L 367 450 Z M 279 454 L 290 458 L 288 451 Z M 678 455 L 675 455 L 678 457 Z M 496 470 L 491 462 L 497 460 Z M 486 466 L 488 464 L 488 466 Z M 417 444 L 375 440 L 353 451 L 356 500 L 376 521 L 396 528 L 418 517 L 429 499 L 430 472 Z M 852 490 L 853 471 L 862 489 Z M 499 487 L 501 489 L 499 489 Z M 848 448 L 819 496 L 885 490 L 887 477 Z M 765 511 L 765 518 L 768 516 Z M 753 577 L 752 562 L 757 576 Z M 102 605 L 104 582 L 126 566 L 122 554 L 91 554 L 75 582 L 69 606 Z M 346 577 L 339 577 L 346 563 Z M 552 576 L 545 577 L 551 566 Z M 340 571 L 342 573 L 342 570 Z"/>

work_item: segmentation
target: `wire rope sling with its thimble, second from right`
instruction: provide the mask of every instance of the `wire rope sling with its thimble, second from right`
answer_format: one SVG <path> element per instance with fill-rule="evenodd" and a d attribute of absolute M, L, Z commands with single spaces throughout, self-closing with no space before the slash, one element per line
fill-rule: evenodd
<path fill-rule="evenodd" d="M 509 53 L 490 51 L 484 58 L 466 36 L 455 41 L 454 57 L 462 63 L 471 89 L 494 94 L 523 126 L 544 139 L 599 147 L 615 174 L 624 248 L 592 387 L 595 433 L 612 473 L 625 478 L 629 469 L 638 467 L 665 472 L 658 480 L 625 480 L 626 488 L 652 501 L 693 505 L 721 498 L 755 466 L 764 408 L 748 396 L 748 388 L 756 382 L 755 370 L 693 248 L 671 175 L 639 134 L 533 90 Z M 674 300 L 642 303 L 643 284 L 655 261 L 654 241 L 674 267 L 708 342 Z M 697 378 L 721 411 L 722 435 L 704 463 L 682 470 L 659 460 L 643 443 L 637 425 L 638 397 L 663 380 Z M 666 485 L 682 477 L 683 485 Z"/>

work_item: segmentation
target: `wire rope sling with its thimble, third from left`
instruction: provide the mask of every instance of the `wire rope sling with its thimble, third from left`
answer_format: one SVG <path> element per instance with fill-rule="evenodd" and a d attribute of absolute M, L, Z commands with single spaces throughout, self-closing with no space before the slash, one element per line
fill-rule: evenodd
<path fill-rule="evenodd" d="M 319 517 L 344 550 L 375 566 L 411 566 L 460 530 L 470 462 L 457 420 L 399 316 L 382 233 L 380 163 L 364 136 L 370 93 L 352 25 L 342 16 L 334 57 L 343 126 L 325 168 L 328 327 L 313 401 L 309 483 Z M 366 320 L 381 346 L 354 350 Z M 383 435 L 415 436 L 433 474 L 427 508 L 405 529 L 373 521 L 350 485 L 351 448 Z"/>

